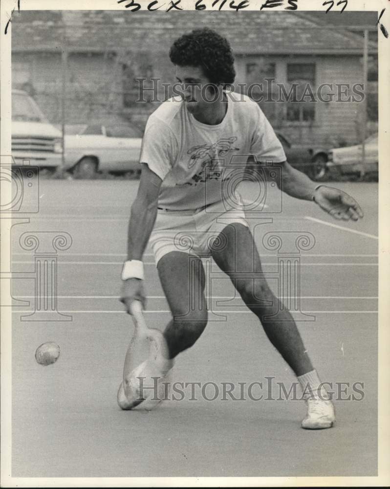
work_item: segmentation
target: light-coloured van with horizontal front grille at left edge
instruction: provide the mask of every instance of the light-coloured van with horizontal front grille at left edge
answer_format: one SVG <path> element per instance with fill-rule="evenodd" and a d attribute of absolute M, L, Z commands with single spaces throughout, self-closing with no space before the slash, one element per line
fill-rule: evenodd
<path fill-rule="evenodd" d="M 22 90 L 12 90 L 11 153 L 15 166 L 23 161 L 40 170 L 61 165 L 62 133 L 44 116 L 38 104 Z"/>

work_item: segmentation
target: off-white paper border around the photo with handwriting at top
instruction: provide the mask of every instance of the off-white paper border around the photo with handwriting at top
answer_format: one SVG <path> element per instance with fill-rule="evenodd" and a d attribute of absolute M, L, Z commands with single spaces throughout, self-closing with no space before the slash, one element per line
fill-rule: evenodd
<path fill-rule="evenodd" d="M 150 3 L 150 0 L 137 0 Z M 324 11 L 324 0 L 298 0 L 298 10 Z M 263 0 L 249 0 L 244 10 L 260 11 Z M 227 2 L 228 3 L 228 2 Z M 239 1 L 236 0 L 236 3 Z M 337 1 L 335 1 L 334 9 Z M 4 35 L 5 25 L 17 0 L 2 0 L 0 10 L 0 155 L 11 154 L 11 36 L 12 22 Z M 180 6 L 194 10 L 195 0 L 181 0 Z M 126 10 L 116 0 L 67 0 L 63 6 L 49 0 L 21 0 L 24 10 Z M 326 7 L 327 8 L 327 7 Z M 390 32 L 390 2 L 386 0 L 348 0 L 347 11 L 378 11 L 385 8 L 381 23 Z M 268 12 L 283 7 L 267 9 Z M 214 9 L 215 10 L 215 9 Z M 227 10 L 224 8 L 223 10 Z M 136 16 L 137 13 L 129 12 Z M 152 13 L 151 13 L 152 15 Z M 177 13 L 180 15 L 180 12 Z M 237 14 L 239 15 L 239 12 Z M 377 477 L 169 477 L 169 478 L 17 478 L 11 477 L 11 308 L 1 308 L 1 487 L 326 487 L 326 486 L 388 486 L 390 485 L 390 37 L 386 39 L 378 26 L 379 60 L 379 364 L 378 364 L 378 476 Z M 1 182 L 1 190 L 10 192 L 10 185 Z M 1 219 L 1 268 L 10 269 L 11 220 Z M 3 281 L 4 282 L 4 281 Z M 1 290 L 2 300 L 9 298 L 9 290 Z M 356 429 L 365 429 L 364 425 Z M 387 462 L 386 462 L 387 460 Z"/>

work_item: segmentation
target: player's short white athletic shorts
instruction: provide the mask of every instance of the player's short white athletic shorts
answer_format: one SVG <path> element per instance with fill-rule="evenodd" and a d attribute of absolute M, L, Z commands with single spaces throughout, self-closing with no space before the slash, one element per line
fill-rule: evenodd
<path fill-rule="evenodd" d="M 199 257 L 210 256 L 212 249 L 225 246 L 226 240 L 221 231 L 234 222 L 250 227 L 243 208 L 226 210 L 223 202 L 196 210 L 172 211 L 159 208 L 149 240 L 156 265 L 171 251 L 182 251 Z"/>

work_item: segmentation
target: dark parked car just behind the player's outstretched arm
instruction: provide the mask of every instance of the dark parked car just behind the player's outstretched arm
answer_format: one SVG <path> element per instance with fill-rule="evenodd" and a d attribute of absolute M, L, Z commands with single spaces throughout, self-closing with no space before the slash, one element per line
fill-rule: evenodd
<path fill-rule="evenodd" d="M 276 131 L 282 143 L 287 161 L 291 166 L 308 175 L 313 180 L 322 180 L 326 175 L 327 152 L 324 149 L 313 149 L 309 145 L 292 144 L 289 139 Z"/>

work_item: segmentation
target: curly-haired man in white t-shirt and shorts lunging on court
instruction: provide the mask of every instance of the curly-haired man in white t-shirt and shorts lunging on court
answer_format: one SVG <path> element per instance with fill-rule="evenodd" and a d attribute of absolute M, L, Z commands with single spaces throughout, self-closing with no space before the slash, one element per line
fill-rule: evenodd
<path fill-rule="evenodd" d="M 363 212 L 345 192 L 316 186 L 292 168 L 258 104 L 229 91 L 235 69 L 226 39 L 211 29 L 196 29 L 173 43 L 170 59 L 182 96 L 161 104 L 146 125 L 121 301 L 129 313 L 134 299 L 145 305 L 142 257 L 150 242 L 173 314 L 164 331 L 170 352 L 161 373 L 165 375 L 173 358 L 193 346 L 206 327 L 205 273 L 199 256 L 209 253 L 297 376 L 307 401 L 303 428 L 329 428 L 335 422 L 333 404 L 291 314 L 261 276 L 244 205 L 237 196 L 231 205 L 225 182 L 232 172 L 237 175 L 237 162 L 244 164 L 252 155 L 260 166 L 272 161 L 281 167 L 280 188 L 286 194 L 310 200 L 338 220 L 357 221 Z M 234 168 L 229 168 L 232 162 Z"/>

